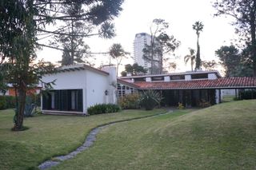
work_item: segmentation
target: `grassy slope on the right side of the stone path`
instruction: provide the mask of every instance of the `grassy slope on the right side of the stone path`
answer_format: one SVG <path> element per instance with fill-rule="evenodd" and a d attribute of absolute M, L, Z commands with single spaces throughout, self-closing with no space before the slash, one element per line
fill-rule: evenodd
<path fill-rule="evenodd" d="M 254 169 L 255 104 L 234 101 L 112 125 L 92 148 L 53 169 Z"/>

